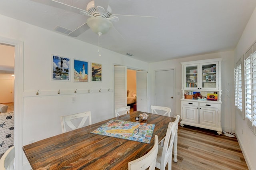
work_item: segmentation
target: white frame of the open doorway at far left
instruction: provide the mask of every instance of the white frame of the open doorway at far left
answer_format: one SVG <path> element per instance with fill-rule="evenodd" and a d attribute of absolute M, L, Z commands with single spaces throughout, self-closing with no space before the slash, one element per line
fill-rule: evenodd
<path fill-rule="evenodd" d="M 23 167 L 23 42 L 0 37 L 0 43 L 15 47 L 14 58 L 14 146 L 15 169 Z"/>

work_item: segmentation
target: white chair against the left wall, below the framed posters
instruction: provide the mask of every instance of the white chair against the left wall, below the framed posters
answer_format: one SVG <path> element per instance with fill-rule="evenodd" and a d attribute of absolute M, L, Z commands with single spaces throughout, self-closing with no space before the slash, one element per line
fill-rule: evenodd
<path fill-rule="evenodd" d="M 79 119 L 81 119 L 80 123 L 79 123 Z M 92 116 L 90 111 L 83 112 L 83 113 L 76 113 L 73 115 L 62 116 L 61 117 L 62 133 L 67 131 L 66 125 L 68 125 L 68 127 L 70 127 L 72 130 L 75 130 L 77 128 L 83 127 L 87 119 L 89 120 L 88 124 L 92 125 Z M 79 125 L 76 126 L 75 124 L 78 124 L 78 123 Z"/>

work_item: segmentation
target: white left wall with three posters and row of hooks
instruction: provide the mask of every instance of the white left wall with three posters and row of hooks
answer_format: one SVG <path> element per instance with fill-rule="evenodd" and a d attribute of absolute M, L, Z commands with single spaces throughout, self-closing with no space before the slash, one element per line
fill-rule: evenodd
<path fill-rule="evenodd" d="M 24 42 L 23 103 L 15 103 L 16 114 L 23 115 L 22 138 L 14 140 L 29 144 L 31 140 L 41 140 L 60 134 L 60 116 L 82 111 L 92 112 L 92 123 L 114 116 L 114 64 L 148 70 L 148 63 L 120 55 L 113 51 L 101 49 L 73 38 L 50 32 L 0 15 L 0 37 Z M 97 36 L 95 36 L 97 38 Z M 52 81 L 52 54 L 70 59 L 82 59 L 102 64 L 102 82 L 74 83 L 72 81 Z M 71 60 L 71 68 L 73 61 Z M 20 63 L 22 64 L 22 63 Z M 73 70 L 70 70 L 72 77 Z M 90 73 L 90 72 L 89 72 Z M 102 88 L 102 92 L 99 89 Z M 111 88 L 108 92 L 107 89 Z M 77 93 L 73 92 L 77 89 Z M 89 89 L 91 93 L 88 93 Z M 36 92 L 39 90 L 39 95 Z M 60 94 L 57 92 L 60 90 Z M 16 91 L 16 93 L 20 93 Z M 72 97 L 76 102 L 72 103 Z M 19 135 L 22 136 L 22 135 Z M 22 152 L 22 148 L 16 148 Z M 27 160 L 24 156 L 24 164 Z"/>

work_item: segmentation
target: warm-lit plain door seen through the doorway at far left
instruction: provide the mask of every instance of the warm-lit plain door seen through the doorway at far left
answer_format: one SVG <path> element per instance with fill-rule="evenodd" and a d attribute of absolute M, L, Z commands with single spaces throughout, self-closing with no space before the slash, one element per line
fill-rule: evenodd
<path fill-rule="evenodd" d="M 0 79 L 0 103 L 12 103 L 12 79 Z"/>

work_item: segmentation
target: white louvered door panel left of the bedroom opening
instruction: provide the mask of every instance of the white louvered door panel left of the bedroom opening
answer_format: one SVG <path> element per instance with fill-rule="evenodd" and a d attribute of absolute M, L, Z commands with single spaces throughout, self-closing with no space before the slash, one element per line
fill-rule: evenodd
<path fill-rule="evenodd" d="M 127 68 L 114 67 L 115 79 L 115 108 L 127 106 Z"/>

